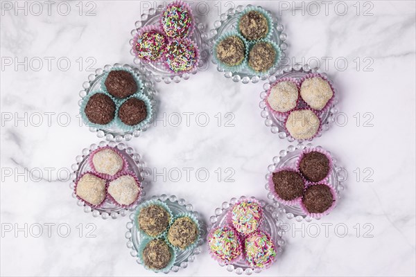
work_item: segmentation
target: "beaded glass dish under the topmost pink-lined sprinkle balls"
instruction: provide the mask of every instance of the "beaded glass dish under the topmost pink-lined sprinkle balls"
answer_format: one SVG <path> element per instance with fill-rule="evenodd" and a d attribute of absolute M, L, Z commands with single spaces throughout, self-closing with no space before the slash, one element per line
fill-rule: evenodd
<path fill-rule="evenodd" d="M 136 28 L 131 31 L 132 37 L 135 37 L 138 30 L 144 26 L 159 25 L 163 10 L 164 6 L 159 5 L 155 9 L 150 8 L 148 13 L 142 14 L 140 17 L 141 20 L 136 21 L 135 23 Z M 205 71 L 207 69 L 209 55 L 208 44 L 206 42 L 208 35 L 205 33 L 205 24 L 200 23 L 196 15 L 193 15 L 193 20 L 195 21 L 195 28 L 193 33 L 189 36 L 189 39 L 195 42 L 199 49 L 200 60 L 196 71 L 189 73 L 173 73 L 166 68 L 164 62 L 144 62 L 135 56 L 135 53 L 132 50 L 132 46 L 135 42 L 133 39 L 130 39 L 130 54 L 135 57 L 133 62 L 139 66 L 141 71 L 148 71 L 150 75 L 152 75 L 153 80 L 156 82 L 162 82 L 163 80 L 166 84 L 169 84 L 172 81 L 180 82 L 182 79 L 188 80 L 191 74 L 196 74 L 198 71 Z"/>

